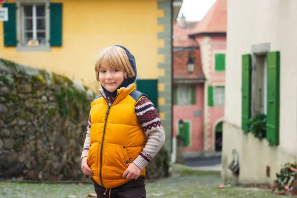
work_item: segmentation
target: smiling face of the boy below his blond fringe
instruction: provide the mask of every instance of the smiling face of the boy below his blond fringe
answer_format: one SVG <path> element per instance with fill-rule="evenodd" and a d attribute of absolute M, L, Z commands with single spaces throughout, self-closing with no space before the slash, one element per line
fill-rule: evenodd
<path fill-rule="evenodd" d="M 124 71 L 101 66 L 99 70 L 99 81 L 107 91 L 113 92 L 124 81 Z"/>

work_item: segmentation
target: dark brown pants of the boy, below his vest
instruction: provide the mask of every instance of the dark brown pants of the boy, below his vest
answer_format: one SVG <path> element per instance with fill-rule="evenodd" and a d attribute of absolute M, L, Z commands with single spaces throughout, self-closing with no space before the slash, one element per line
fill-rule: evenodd
<path fill-rule="evenodd" d="M 91 178 L 97 198 L 108 198 L 110 189 L 107 190 L 104 195 L 105 188 L 101 187 L 93 178 Z M 130 180 L 129 182 L 111 189 L 110 198 L 146 198 L 146 185 L 145 177 L 139 176 L 136 180 Z"/>

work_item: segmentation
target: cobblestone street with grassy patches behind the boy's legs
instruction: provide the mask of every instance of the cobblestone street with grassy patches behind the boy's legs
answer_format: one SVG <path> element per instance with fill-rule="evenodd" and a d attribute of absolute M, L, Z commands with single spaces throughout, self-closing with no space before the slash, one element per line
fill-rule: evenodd
<path fill-rule="evenodd" d="M 147 183 L 147 198 L 286 198 L 271 191 L 220 185 L 218 172 L 184 170 L 180 176 Z M 87 198 L 93 185 L 0 182 L 0 198 Z"/>

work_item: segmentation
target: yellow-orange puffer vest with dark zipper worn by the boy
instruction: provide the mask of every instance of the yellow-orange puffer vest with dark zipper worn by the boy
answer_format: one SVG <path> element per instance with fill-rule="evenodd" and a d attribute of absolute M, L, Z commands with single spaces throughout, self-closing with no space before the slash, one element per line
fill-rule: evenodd
<path fill-rule="evenodd" d="M 118 89 L 110 107 L 104 97 L 96 98 L 91 104 L 88 164 L 93 179 L 106 189 L 129 181 L 122 175 L 147 143 L 135 113 L 135 105 L 142 97 L 144 94 L 136 91 L 133 84 L 129 89 Z M 145 169 L 141 175 L 145 175 Z"/>

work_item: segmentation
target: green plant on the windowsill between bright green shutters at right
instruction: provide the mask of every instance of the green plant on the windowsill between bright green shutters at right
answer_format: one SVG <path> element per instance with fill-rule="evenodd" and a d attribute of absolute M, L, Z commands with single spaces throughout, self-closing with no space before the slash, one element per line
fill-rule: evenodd
<path fill-rule="evenodd" d="M 256 116 L 248 119 L 247 127 L 254 137 L 266 137 L 266 115 L 257 114 Z"/>

